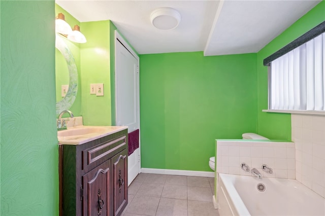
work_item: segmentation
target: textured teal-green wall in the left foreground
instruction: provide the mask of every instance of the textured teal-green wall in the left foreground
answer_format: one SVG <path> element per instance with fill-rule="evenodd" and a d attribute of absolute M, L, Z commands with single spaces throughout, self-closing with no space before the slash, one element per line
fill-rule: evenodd
<path fill-rule="evenodd" d="M 1 215 L 57 215 L 54 1 L 0 7 Z"/>

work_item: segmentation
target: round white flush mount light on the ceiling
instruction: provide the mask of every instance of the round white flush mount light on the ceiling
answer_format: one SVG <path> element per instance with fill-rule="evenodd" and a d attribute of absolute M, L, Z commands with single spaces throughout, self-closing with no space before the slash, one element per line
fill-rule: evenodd
<path fill-rule="evenodd" d="M 174 8 L 158 8 L 151 13 L 150 21 L 156 28 L 169 30 L 178 26 L 181 15 Z"/>

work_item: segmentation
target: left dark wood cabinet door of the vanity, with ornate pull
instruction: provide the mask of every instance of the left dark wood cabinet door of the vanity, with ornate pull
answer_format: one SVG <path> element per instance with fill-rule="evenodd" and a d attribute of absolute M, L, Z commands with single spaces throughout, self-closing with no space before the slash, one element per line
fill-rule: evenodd
<path fill-rule="evenodd" d="M 111 160 L 82 176 L 83 215 L 111 215 Z"/>

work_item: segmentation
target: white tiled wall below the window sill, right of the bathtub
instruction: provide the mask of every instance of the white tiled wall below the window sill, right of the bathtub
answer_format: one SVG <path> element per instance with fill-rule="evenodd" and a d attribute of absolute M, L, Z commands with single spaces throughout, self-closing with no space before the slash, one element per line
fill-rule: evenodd
<path fill-rule="evenodd" d="M 291 115 L 296 179 L 325 197 L 325 116 Z"/>

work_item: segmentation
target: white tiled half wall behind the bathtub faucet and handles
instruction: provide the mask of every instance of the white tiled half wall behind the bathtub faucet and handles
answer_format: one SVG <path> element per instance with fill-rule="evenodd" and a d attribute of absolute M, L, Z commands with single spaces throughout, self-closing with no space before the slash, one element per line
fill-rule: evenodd
<path fill-rule="evenodd" d="M 295 143 L 286 141 L 217 140 L 218 173 L 252 175 L 240 168 L 246 163 L 256 168 L 263 177 L 296 178 Z M 262 164 L 273 169 L 269 174 L 262 170 Z"/>

